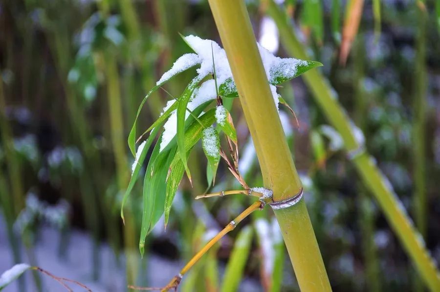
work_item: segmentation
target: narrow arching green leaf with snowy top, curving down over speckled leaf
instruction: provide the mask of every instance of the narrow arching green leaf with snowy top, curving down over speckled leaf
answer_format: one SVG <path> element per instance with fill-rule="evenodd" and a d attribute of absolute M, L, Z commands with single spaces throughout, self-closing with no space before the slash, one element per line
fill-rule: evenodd
<path fill-rule="evenodd" d="M 188 179 L 191 182 L 191 173 L 188 168 L 188 162 L 185 155 L 185 116 L 187 111 L 188 102 L 196 89 L 198 83 L 204 76 L 198 75 L 195 77 L 190 84 L 183 91 L 182 96 L 179 98 L 177 105 L 177 150 L 180 153 L 180 157 L 185 167 Z"/>

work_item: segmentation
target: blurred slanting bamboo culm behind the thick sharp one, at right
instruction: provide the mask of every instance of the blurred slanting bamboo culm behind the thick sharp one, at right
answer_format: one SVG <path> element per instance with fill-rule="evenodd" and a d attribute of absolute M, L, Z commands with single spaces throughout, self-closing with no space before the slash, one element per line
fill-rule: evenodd
<path fill-rule="evenodd" d="M 303 45 L 298 41 L 286 14 L 273 2 L 264 0 L 267 14 L 274 19 L 280 31 L 281 41 L 287 52 L 293 57 L 308 60 Z M 318 70 L 310 70 L 304 75 L 308 88 L 312 91 L 317 104 L 329 119 L 333 127 L 342 136 L 348 153 L 357 154 L 352 161 L 366 187 L 372 192 L 385 214 L 391 228 L 396 233 L 408 256 L 431 291 L 440 291 L 440 275 L 429 255 L 422 238 L 412 224 L 405 208 L 397 198 L 386 177 L 377 168 L 374 158 L 366 151 L 358 151 L 362 145 L 357 142 L 351 121 L 338 103 L 334 91 Z"/>

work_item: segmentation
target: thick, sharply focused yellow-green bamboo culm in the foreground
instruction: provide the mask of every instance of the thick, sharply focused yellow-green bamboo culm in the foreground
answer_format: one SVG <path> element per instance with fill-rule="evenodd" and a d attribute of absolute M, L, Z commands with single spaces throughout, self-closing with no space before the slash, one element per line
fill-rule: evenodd
<path fill-rule="evenodd" d="M 264 179 L 281 201 L 301 192 L 243 0 L 209 0 Z M 331 291 L 304 200 L 274 210 L 302 291 Z"/>

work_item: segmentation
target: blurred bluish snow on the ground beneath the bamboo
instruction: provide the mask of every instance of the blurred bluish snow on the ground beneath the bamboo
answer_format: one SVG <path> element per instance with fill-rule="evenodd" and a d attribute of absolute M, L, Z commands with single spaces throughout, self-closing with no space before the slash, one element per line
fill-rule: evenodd
<path fill-rule="evenodd" d="M 107 244 L 102 244 L 101 252 L 101 277 L 98 281 L 92 280 L 92 258 L 91 248 L 92 242 L 87 233 L 78 230 L 70 231 L 70 242 L 67 246 L 66 259 L 58 256 L 59 232 L 55 229 L 43 227 L 39 235 L 39 242 L 35 247 L 35 255 L 38 266 L 53 273 L 59 277 L 66 277 L 79 281 L 87 285 L 93 292 L 121 292 L 126 291 L 124 258 L 120 258 L 120 266 L 116 264 L 116 258 Z M 29 263 L 22 248 L 23 263 Z M 136 255 L 139 252 L 136 250 Z M 184 263 L 179 261 L 171 261 L 157 255 L 148 255 L 148 266 L 151 269 L 140 271 L 147 279 L 149 286 L 160 287 L 168 283 L 168 281 L 176 275 L 178 270 L 183 267 Z M 140 256 L 138 258 L 140 261 Z M 147 259 L 146 259 L 147 260 Z M 14 266 L 9 241 L 6 235 L 6 225 L 0 213 L 0 274 Z M 220 267 L 220 273 L 223 274 L 224 267 Z M 36 291 L 33 285 L 32 273 L 26 271 L 23 276 L 26 281 L 27 291 Z M 66 291 L 53 279 L 41 275 L 43 280 L 44 292 L 60 292 Z M 220 277 L 221 279 L 221 277 Z M 183 279 L 183 281 L 185 278 Z M 75 292 L 84 291 L 69 285 Z M 245 279 L 240 291 L 262 291 L 260 284 L 252 279 Z M 18 289 L 18 282 L 15 281 L 7 286 L 2 292 L 22 292 Z"/>

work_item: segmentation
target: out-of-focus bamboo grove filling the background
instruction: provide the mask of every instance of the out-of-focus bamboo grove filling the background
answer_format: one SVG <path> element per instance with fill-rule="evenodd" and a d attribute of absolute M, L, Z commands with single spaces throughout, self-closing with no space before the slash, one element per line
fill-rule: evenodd
<path fill-rule="evenodd" d="M 324 65 L 277 90 L 294 112 L 279 106 L 332 290 L 436 291 L 440 0 L 245 3 L 260 45 Z M 187 159 L 191 183 L 185 175 L 166 229 L 159 220 L 143 257 L 141 181 L 125 203 L 125 225 L 121 219 L 135 163 L 127 137 L 139 104 L 192 52 L 181 38 L 190 34 L 221 45 L 208 1 L 0 1 L 0 272 L 27 263 L 92 291 L 163 287 L 255 201 L 195 200 L 240 189 L 223 161 L 207 189 L 198 143 Z M 136 138 L 195 72 L 148 98 Z M 242 179 L 263 186 L 242 106 L 237 98 L 223 102 L 234 120 Z M 4 291 L 62 289 L 31 270 Z M 215 244 L 178 290 L 299 291 L 271 208 Z"/>

